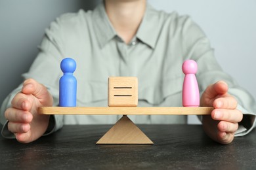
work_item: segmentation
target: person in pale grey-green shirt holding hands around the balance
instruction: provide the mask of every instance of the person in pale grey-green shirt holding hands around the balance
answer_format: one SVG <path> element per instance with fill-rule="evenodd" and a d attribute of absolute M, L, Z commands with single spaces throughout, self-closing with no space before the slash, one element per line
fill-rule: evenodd
<path fill-rule="evenodd" d="M 47 29 L 40 50 L 24 75 L 27 80 L 1 108 L 1 116 L 5 115 L 1 118 L 5 124 L 2 134 L 16 137 L 21 143 L 35 141 L 63 124 L 114 123 L 118 119 L 37 114 L 37 107 L 58 105 L 59 65 L 67 57 L 77 61 L 79 106 L 106 106 L 108 76 L 137 76 L 139 106 L 181 106 L 181 65 L 185 59 L 194 59 L 199 65 L 200 105 L 215 108 L 210 116 L 202 118 L 203 129 L 211 139 L 231 143 L 238 123 L 255 116 L 243 119 L 243 113 L 255 112 L 250 105 L 253 99 L 221 71 L 198 25 L 188 16 L 157 11 L 146 0 L 106 0 L 93 11 L 64 14 Z M 185 116 L 132 119 L 137 123 L 186 123 Z M 238 135 L 249 133 L 253 127 L 244 126 L 249 128 Z"/>

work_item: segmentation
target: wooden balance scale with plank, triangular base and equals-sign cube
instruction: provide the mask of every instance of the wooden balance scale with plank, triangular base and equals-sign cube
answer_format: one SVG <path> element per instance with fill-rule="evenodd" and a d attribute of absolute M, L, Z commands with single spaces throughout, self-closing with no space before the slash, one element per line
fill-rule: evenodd
<path fill-rule="evenodd" d="M 207 115 L 213 107 L 137 107 L 135 77 L 110 77 L 109 107 L 39 107 L 39 114 L 123 115 L 96 144 L 153 144 L 127 115 Z"/>

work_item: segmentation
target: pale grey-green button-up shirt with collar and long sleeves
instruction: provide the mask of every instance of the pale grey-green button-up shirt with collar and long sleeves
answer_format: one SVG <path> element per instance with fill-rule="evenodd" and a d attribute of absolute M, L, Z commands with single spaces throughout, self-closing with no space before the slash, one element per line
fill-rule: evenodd
<path fill-rule="evenodd" d="M 34 78 L 44 84 L 58 105 L 58 80 L 62 76 L 60 61 L 74 58 L 77 69 L 77 106 L 106 107 L 109 76 L 137 76 L 138 107 L 182 106 L 182 63 L 194 59 L 198 63 L 200 92 L 218 80 L 228 83 L 244 114 L 255 112 L 253 98 L 224 73 L 214 58 L 213 49 L 203 31 L 189 16 L 158 11 L 147 4 L 137 34 L 129 44 L 119 37 L 100 3 L 93 11 L 79 10 L 64 14 L 46 29 L 39 54 L 24 78 Z M 7 97 L 4 110 L 21 86 Z M 185 124 L 186 116 L 129 116 L 142 124 Z M 63 124 L 114 124 L 119 116 L 54 116 L 54 130 Z M 249 132 L 255 116 L 249 116 Z M 4 127 L 7 128 L 6 126 Z M 4 132 L 3 132 L 4 133 Z"/>

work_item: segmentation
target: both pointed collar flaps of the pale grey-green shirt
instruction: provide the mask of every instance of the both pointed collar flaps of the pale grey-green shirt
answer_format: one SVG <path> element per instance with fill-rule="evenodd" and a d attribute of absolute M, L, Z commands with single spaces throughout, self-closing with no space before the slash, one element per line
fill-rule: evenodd
<path fill-rule="evenodd" d="M 116 30 L 110 23 L 110 20 L 106 14 L 104 1 L 102 1 L 96 7 L 96 9 L 93 10 L 92 18 L 100 48 L 103 48 L 106 43 L 117 36 Z M 137 31 L 136 37 L 151 48 L 155 48 L 156 41 L 158 39 L 158 33 L 160 31 L 159 24 L 157 24 L 158 20 L 158 11 L 147 3 L 146 11 Z"/>

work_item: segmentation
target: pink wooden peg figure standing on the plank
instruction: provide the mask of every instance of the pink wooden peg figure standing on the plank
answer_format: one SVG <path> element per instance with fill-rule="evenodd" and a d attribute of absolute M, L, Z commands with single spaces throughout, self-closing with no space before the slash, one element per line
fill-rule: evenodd
<path fill-rule="evenodd" d="M 196 72 L 198 65 L 196 61 L 188 59 L 182 64 L 182 71 L 185 74 L 182 89 L 182 105 L 183 107 L 199 107 L 200 94 L 198 89 L 198 81 L 196 80 Z"/>

